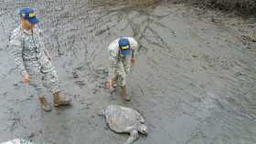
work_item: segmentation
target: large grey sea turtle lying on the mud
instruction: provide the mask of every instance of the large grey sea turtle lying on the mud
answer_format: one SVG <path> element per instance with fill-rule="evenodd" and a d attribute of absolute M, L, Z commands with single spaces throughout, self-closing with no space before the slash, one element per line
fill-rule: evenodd
<path fill-rule="evenodd" d="M 127 139 L 124 144 L 133 143 L 135 139 L 138 139 L 139 132 L 144 135 L 147 134 L 144 118 L 138 111 L 132 108 L 110 105 L 101 110 L 101 115 L 105 117 L 112 131 L 117 133 L 130 133 L 129 139 Z"/>

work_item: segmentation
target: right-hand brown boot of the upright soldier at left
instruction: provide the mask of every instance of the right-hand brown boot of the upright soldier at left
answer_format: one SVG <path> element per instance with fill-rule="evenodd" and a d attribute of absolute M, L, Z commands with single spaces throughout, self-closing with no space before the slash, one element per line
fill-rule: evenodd
<path fill-rule="evenodd" d="M 71 105 L 71 99 L 65 96 L 61 96 L 59 92 L 53 94 L 53 101 L 55 107 Z"/>

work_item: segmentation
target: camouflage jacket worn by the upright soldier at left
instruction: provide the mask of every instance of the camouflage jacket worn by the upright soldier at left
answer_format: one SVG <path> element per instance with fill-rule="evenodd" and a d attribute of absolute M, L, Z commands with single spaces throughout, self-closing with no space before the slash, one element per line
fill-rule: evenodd
<path fill-rule="evenodd" d="M 42 31 L 35 27 L 28 31 L 21 26 L 17 27 L 10 37 L 10 54 L 21 70 L 21 74 L 27 74 L 25 61 L 42 61 L 48 57 L 48 51 L 43 43 Z"/>

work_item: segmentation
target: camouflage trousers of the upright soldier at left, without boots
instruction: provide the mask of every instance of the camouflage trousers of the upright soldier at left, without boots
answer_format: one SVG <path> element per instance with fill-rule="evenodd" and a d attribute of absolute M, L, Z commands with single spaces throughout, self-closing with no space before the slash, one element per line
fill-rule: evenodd
<path fill-rule="evenodd" d="M 45 87 L 51 93 L 59 91 L 57 73 L 48 59 L 45 58 L 43 62 L 24 61 L 24 65 L 29 75 L 29 85 L 35 87 L 38 97 L 44 96 Z"/>

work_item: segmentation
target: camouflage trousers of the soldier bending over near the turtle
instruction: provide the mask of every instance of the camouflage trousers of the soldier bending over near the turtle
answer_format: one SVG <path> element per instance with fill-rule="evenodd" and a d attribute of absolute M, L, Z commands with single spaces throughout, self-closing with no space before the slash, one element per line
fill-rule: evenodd
<path fill-rule="evenodd" d="M 131 58 L 132 57 L 121 57 L 121 59 L 119 59 L 116 63 L 115 77 L 113 77 L 113 80 L 118 86 L 123 87 L 126 85 L 126 76 L 131 71 Z"/>

